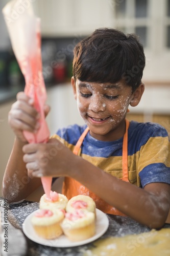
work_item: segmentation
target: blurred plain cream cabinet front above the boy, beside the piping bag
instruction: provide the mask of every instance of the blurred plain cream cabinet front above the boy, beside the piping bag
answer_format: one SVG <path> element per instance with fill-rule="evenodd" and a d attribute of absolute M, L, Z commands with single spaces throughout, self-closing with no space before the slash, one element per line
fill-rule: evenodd
<path fill-rule="evenodd" d="M 110 27 L 111 1 L 36 0 L 35 13 L 41 18 L 43 36 L 86 36 L 99 27 Z"/>

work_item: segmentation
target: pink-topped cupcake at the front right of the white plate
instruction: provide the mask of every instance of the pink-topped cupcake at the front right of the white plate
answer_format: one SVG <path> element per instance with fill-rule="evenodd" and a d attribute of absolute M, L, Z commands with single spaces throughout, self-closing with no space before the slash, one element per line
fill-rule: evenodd
<path fill-rule="evenodd" d="M 61 227 L 70 241 L 78 242 L 91 238 L 95 234 L 94 213 L 82 209 L 66 212 Z"/>

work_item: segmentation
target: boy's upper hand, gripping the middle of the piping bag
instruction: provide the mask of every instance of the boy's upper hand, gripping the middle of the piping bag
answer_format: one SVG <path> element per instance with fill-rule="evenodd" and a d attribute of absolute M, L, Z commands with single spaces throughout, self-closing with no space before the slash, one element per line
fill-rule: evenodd
<path fill-rule="evenodd" d="M 19 92 L 16 96 L 17 101 L 12 104 L 11 110 L 8 115 L 8 122 L 14 131 L 16 137 L 21 142 L 27 142 L 23 136 L 23 131 L 36 133 L 40 127 L 38 119 L 39 113 L 34 108 L 34 100 L 28 97 L 24 92 Z M 45 116 L 50 108 L 45 105 Z"/>

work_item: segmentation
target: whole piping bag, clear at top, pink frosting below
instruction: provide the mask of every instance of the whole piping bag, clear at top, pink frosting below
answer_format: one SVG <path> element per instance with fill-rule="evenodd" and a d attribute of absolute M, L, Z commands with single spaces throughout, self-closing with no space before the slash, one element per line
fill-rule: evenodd
<path fill-rule="evenodd" d="M 40 19 L 34 15 L 30 1 L 12 0 L 2 12 L 12 49 L 25 77 L 25 93 L 34 99 L 34 107 L 40 113 L 38 132 L 33 134 L 23 131 L 23 134 L 29 143 L 46 143 L 50 132 L 43 110 L 46 89 L 42 75 Z M 51 198 L 52 177 L 41 177 L 41 182 L 46 196 Z"/>

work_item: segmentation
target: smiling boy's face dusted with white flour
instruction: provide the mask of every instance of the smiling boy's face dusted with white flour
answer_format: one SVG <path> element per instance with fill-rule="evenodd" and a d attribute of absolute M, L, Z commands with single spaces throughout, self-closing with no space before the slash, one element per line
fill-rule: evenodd
<path fill-rule="evenodd" d="M 74 84 L 73 84 L 74 83 Z M 117 83 L 72 81 L 78 110 L 90 134 L 103 141 L 121 138 L 125 117 L 132 99 L 132 88 L 124 81 Z"/>

